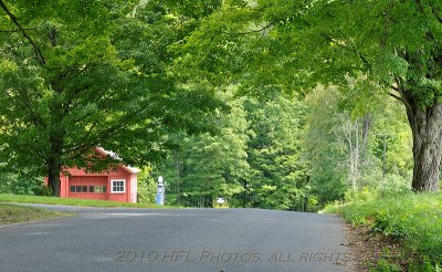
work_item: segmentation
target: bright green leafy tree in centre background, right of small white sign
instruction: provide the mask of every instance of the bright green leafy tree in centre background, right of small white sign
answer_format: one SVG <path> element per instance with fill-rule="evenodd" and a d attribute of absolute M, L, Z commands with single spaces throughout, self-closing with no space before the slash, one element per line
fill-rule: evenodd
<path fill-rule="evenodd" d="M 309 192 L 302 137 L 305 105 L 274 90 L 246 100 L 251 139 L 248 161 L 248 206 L 303 210 Z"/>

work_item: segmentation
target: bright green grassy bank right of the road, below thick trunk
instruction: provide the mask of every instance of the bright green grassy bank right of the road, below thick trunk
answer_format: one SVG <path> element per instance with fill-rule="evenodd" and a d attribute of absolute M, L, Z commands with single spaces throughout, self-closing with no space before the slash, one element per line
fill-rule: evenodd
<path fill-rule="evenodd" d="M 442 269 L 442 193 L 410 193 L 329 206 L 325 212 L 340 213 L 355 226 L 368 226 L 373 232 L 402 242 L 406 258 L 418 265 L 410 266 L 410 271 Z"/>

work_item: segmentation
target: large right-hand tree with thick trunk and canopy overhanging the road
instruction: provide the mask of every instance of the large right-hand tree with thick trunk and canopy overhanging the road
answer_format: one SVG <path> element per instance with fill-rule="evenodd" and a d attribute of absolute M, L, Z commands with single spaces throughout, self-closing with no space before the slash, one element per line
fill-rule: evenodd
<path fill-rule="evenodd" d="M 441 32 L 436 0 L 227 1 L 186 49 L 197 52 L 193 65 L 234 71 L 229 80 L 265 71 L 275 75 L 266 80 L 304 93 L 318 83 L 346 86 L 352 77 L 375 86 L 368 92 L 397 98 L 413 135 L 412 188 L 434 191 L 442 157 Z M 202 40 L 215 44 L 201 46 Z M 243 44 L 249 50 L 238 53 Z"/>

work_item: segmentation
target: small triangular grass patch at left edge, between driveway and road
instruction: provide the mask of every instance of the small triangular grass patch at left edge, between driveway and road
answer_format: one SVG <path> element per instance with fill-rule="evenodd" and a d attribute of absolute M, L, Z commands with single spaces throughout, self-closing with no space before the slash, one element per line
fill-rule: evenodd
<path fill-rule="evenodd" d="M 0 203 L 0 226 L 27 221 L 43 221 L 74 213 L 50 211 L 44 209 Z"/>

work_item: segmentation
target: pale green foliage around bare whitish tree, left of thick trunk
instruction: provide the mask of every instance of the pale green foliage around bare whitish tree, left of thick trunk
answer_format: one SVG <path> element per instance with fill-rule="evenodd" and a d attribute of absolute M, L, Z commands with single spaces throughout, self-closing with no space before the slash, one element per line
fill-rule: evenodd
<path fill-rule="evenodd" d="M 397 104 L 375 98 L 371 106 L 359 103 L 336 87 L 319 86 L 306 96 L 303 144 L 320 205 L 410 191 L 411 134 L 404 116 Z"/>

